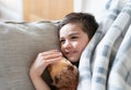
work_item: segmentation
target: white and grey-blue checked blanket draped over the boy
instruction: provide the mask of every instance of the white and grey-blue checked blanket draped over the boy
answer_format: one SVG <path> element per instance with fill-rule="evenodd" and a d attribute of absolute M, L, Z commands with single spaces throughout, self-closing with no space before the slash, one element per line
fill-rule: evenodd
<path fill-rule="evenodd" d="M 82 53 L 78 90 L 131 90 L 131 0 L 110 0 Z"/>

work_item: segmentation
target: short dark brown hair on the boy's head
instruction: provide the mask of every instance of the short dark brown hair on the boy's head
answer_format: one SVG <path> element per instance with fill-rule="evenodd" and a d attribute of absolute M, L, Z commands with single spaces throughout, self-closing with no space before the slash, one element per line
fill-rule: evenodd
<path fill-rule="evenodd" d="M 59 29 L 69 23 L 80 24 L 82 30 L 87 34 L 90 39 L 94 36 L 98 27 L 98 24 L 95 21 L 95 17 L 88 13 L 74 13 L 74 12 L 69 13 L 60 22 Z"/>

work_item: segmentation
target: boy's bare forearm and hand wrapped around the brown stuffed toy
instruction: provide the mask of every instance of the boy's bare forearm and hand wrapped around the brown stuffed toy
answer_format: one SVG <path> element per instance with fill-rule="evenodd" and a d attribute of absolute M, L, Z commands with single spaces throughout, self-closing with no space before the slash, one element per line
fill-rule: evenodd
<path fill-rule="evenodd" d="M 50 50 L 38 54 L 29 70 L 29 76 L 36 90 L 50 90 L 41 78 L 41 74 L 48 65 L 56 63 L 61 57 L 62 54 L 58 50 Z"/>

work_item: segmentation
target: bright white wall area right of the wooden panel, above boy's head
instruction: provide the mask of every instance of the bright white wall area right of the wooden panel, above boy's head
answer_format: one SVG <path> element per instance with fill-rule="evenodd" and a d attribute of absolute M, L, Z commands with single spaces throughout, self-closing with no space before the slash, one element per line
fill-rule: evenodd
<path fill-rule="evenodd" d="M 107 2 L 108 0 L 74 0 L 74 11 L 92 13 L 99 20 Z"/>

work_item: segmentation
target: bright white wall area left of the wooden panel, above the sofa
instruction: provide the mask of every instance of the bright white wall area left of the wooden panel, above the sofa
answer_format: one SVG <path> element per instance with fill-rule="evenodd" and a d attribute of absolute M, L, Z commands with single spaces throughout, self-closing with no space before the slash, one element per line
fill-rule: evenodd
<path fill-rule="evenodd" d="M 0 0 L 0 16 L 8 21 L 23 20 L 23 0 Z"/>

